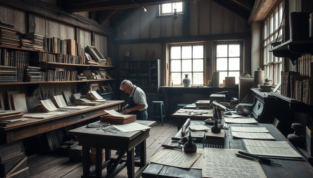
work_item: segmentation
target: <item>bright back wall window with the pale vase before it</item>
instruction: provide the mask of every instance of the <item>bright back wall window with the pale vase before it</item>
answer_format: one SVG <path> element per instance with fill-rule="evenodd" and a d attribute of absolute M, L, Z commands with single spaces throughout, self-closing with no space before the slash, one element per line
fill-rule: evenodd
<path fill-rule="evenodd" d="M 174 84 L 180 85 L 185 74 L 189 74 L 190 84 L 203 84 L 203 44 L 170 46 L 169 56 L 171 80 Z"/>

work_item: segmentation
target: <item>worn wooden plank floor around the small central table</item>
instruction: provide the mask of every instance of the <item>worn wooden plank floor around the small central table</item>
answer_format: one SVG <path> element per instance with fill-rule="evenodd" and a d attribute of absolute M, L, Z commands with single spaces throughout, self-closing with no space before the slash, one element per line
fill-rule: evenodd
<path fill-rule="evenodd" d="M 153 126 L 150 130 L 150 137 L 146 140 L 147 159 L 159 152 L 162 149 L 161 145 L 170 142 L 171 137 L 174 137 L 176 133 L 177 127 L 172 121 L 164 123 L 164 126 L 159 122 Z M 115 151 L 112 151 L 112 156 L 116 156 Z M 28 159 L 28 166 L 28 177 L 32 178 L 78 178 L 83 174 L 81 162 L 69 161 L 68 157 L 54 154 L 34 156 Z M 106 174 L 106 169 L 102 171 L 102 174 Z M 116 178 L 126 177 L 126 168 L 116 176 Z"/>

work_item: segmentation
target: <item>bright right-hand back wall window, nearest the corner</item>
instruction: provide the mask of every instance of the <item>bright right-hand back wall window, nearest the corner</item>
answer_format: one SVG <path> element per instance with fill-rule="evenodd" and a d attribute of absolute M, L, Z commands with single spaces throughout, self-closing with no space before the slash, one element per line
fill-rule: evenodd
<path fill-rule="evenodd" d="M 235 77 L 236 84 L 239 83 L 241 48 L 241 42 L 215 43 L 215 71 L 219 72 L 220 84 L 225 77 Z"/>

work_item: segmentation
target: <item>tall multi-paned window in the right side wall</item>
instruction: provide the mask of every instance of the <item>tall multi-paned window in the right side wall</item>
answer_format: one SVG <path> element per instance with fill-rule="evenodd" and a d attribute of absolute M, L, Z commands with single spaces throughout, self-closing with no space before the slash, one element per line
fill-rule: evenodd
<path fill-rule="evenodd" d="M 263 70 L 265 71 L 265 78 L 273 80 L 273 84 L 278 84 L 281 80 L 282 58 L 275 57 L 269 50 L 272 48 L 271 43 L 276 41 L 278 31 L 277 41 L 282 40 L 282 27 L 280 27 L 282 17 L 283 7 L 282 3 L 279 3 L 264 21 L 263 26 Z"/>

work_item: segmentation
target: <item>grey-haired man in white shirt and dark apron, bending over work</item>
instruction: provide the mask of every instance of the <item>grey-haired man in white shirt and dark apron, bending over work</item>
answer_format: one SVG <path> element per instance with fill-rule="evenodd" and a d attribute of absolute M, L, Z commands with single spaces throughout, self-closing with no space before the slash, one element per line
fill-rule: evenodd
<path fill-rule="evenodd" d="M 124 80 L 121 83 L 121 90 L 123 90 L 125 93 L 129 94 L 129 99 L 127 102 L 127 105 L 122 108 L 124 114 L 135 114 L 137 117 L 137 120 L 147 120 L 148 113 L 147 113 L 147 100 L 146 100 L 146 94 L 144 91 L 142 91 L 141 88 L 136 87 L 136 85 L 133 85 L 131 81 Z M 135 147 L 135 153 L 134 156 L 135 160 L 140 159 L 140 145 L 137 145 Z"/>

